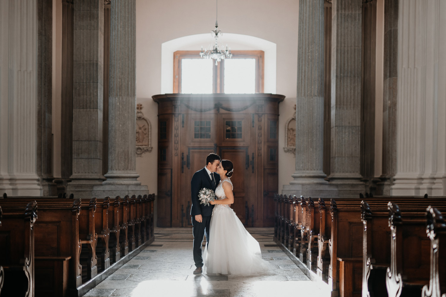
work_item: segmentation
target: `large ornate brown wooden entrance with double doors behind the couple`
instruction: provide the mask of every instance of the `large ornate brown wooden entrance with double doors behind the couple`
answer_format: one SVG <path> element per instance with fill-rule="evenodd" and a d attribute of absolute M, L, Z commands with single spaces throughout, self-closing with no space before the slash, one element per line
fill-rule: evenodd
<path fill-rule="evenodd" d="M 190 180 L 215 152 L 234 163 L 234 203 L 248 227 L 274 225 L 276 94 L 164 94 L 158 103 L 158 227 L 187 227 Z"/>

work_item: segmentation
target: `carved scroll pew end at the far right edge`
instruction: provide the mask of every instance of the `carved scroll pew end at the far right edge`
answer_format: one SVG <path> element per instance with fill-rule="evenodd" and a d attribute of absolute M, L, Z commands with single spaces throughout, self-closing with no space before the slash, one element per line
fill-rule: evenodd
<path fill-rule="evenodd" d="M 430 240 L 429 285 L 421 297 L 446 296 L 446 223 L 435 207 L 426 209 L 426 233 Z"/>

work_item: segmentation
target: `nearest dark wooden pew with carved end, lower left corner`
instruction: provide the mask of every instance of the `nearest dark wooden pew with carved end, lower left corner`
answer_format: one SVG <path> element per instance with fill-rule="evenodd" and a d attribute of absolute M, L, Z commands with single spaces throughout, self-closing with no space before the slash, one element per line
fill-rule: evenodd
<path fill-rule="evenodd" d="M 10 208 L 2 205 L 0 229 L 0 265 L 3 288 L 1 296 L 34 296 L 34 223 L 37 202 L 26 207 Z"/>

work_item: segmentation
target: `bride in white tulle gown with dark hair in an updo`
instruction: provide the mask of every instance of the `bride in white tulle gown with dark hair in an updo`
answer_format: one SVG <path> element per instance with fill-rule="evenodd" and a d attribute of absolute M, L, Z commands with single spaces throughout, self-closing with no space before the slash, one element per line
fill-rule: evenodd
<path fill-rule="evenodd" d="M 215 189 L 217 198 L 212 211 L 209 242 L 206 245 L 205 269 L 207 274 L 231 274 L 252 276 L 265 274 L 271 264 L 262 259 L 260 245 L 244 228 L 242 222 L 229 207 L 234 203 L 232 193 L 233 164 L 229 160 L 221 160 L 217 173 L 220 182 Z"/>

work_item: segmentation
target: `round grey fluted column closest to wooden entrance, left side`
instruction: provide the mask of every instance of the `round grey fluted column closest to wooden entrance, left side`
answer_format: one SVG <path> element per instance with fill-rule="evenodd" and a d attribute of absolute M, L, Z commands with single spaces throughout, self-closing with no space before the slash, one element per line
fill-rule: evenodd
<path fill-rule="evenodd" d="M 111 1 L 108 172 L 94 194 L 147 192 L 136 174 L 136 0 Z"/>

